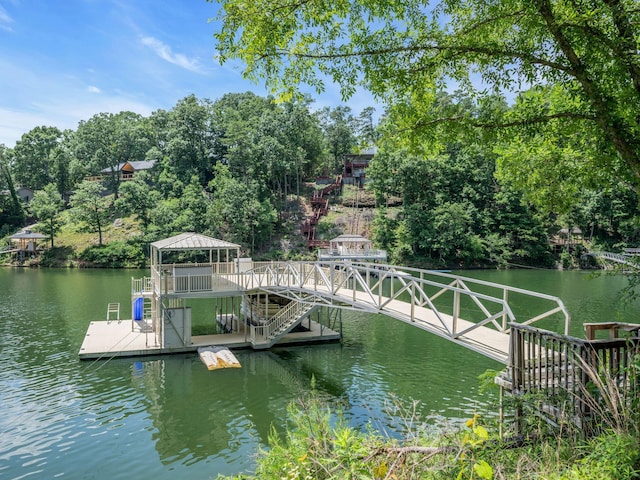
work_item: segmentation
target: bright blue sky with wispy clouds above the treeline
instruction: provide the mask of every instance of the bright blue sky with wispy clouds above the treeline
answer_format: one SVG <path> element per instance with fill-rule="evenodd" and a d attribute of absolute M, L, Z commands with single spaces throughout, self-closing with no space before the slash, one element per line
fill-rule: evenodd
<path fill-rule="evenodd" d="M 0 144 L 37 126 L 77 128 L 102 112 L 149 115 L 188 95 L 216 100 L 264 85 L 214 58 L 206 0 L 0 0 Z M 312 108 L 342 104 L 336 86 Z M 374 106 L 358 92 L 347 106 Z"/>

